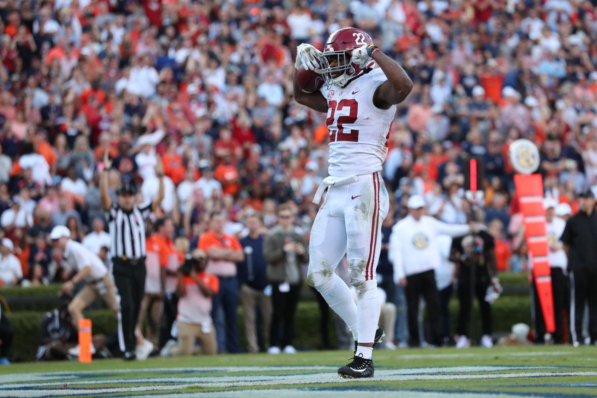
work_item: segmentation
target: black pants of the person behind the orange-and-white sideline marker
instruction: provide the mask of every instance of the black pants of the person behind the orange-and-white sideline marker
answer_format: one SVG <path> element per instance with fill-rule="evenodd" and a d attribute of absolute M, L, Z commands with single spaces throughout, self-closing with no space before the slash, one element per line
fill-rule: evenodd
<path fill-rule="evenodd" d="M 551 268 L 552 275 L 552 294 L 553 294 L 553 315 L 556 322 L 556 330 L 553 332 L 553 342 L 555 344 L 564 343 L 564 316 L 567 316 L 566 303 L 568 302 L 568 276 L 560 267 Z M 537 288 L 533 282 L 534 302 L 535 302 L 535 343 L 544 343 L 546 332 L 543 310 L 537 294 Z M 565 313 L 564 313 L 565 311 Z"/>

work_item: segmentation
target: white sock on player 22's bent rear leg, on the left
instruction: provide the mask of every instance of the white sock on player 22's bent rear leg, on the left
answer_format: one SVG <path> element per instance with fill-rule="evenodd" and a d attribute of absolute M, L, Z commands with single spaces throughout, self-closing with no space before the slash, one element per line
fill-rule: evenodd
<path fill-rule="evenodd" d="M 325 301 L 330 308 L 333 309 L 344 322 L 346 322 L 350 332 L 352 332 L 352 337 L 355 341 L 358 341 L 356 304 L 352 300 L 352 293 L 346 283 L 334 273 L 330 279 L 317 286 L 317 290 L 325 298 Z M 371 341 L 373 341 L 373 339 Z"/>

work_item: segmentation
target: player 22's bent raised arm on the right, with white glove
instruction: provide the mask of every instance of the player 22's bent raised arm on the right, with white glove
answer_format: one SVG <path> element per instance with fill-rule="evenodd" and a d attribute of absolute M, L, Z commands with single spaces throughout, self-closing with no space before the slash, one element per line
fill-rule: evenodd
<path fill-rule="evenodd" d="M 413 81 L 402 66 L 374 45 L 364 45 L 353 51 L 352 60 L 357 64 L 365 65 L 371 59 L 376 61 L 387 78 L 373 94 L 373 104 L 379 109 L 389 109 L 404 101 L 413 90 Z"/>

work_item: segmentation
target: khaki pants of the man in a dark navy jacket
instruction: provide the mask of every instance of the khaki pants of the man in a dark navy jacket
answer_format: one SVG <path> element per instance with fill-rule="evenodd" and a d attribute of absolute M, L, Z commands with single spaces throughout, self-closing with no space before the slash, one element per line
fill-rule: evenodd
<path fill-rule="evenodd" d="M 250 353 L 259 352 L 257 344 L 257 328 L 255 325 L 255 304 L 259 303 L 261 315 L 263 316 L 263 340 L 269 342 L 270 322 L 272 320 L 272 298 L 266 296 L 263 291 L 241 285 L 242 316 L 245 322 L 245 334 L 247 335 L 247 349 Z M 266 347 L 267 348 L 267 347 Z"/>

